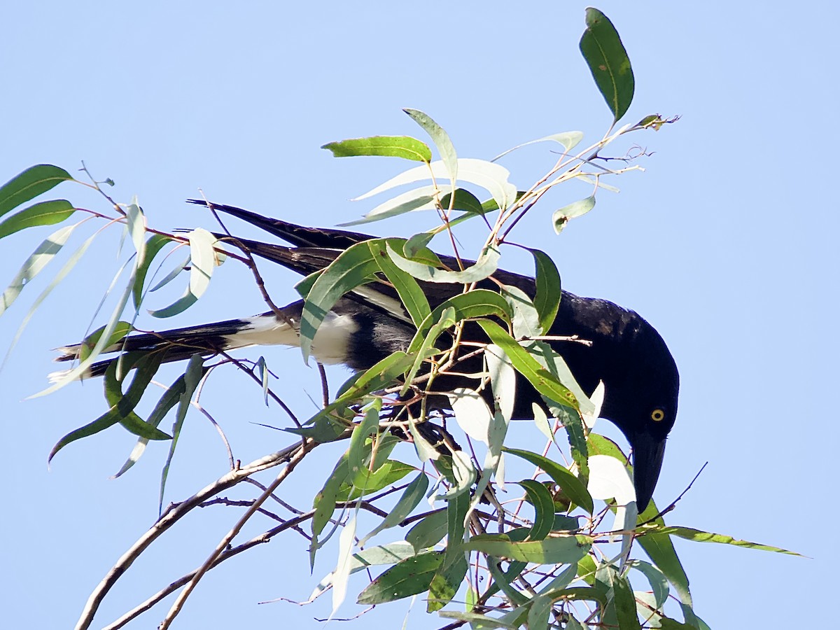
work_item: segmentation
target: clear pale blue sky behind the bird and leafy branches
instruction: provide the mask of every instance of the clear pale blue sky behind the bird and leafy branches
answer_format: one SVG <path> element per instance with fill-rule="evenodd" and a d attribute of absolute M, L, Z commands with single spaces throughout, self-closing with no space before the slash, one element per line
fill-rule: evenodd
<path fill-rule="evenodd" d="M 75 172 L 85 160 L 97 179 L 116 181 L 118 201 L 137 195 L 150 223 L 164 229 L 213 227 L 206 213 L 183 203 L 199 188 L 213 201 L 300 223 L 348 221 L 372 207 L 349 199 L 403 165 L 335 160 L 319 147 L 364 135 L 421 134 L 402 108 L 432 115 L 463 157 L 489 159 L 573 129 L 600 137 L 611 116 L 577 50 L 584 8 L 16 3 L 4 11 L 8 28 L 0 41 L 0 181 L 40 162 Z M 795 585 L 809 585 L 809 600 L 828 595 L 829 562 L 838 551 L 830 535 L 815 530 L 837 517 L 837 420 L 819 401 L 837 387 L 840 225 L 830 182 L 840 15 L 827 2 L 764 3 L 758 13 L 722 2 L 605 1 L 598 8 L 616 24 L 633 61 L 636 97 L 627 120 L 661 113 L 680 115 L 680 122 L 632 138 L 653 155 L 639 162 L 645 172 L 611 182 L 620 194 L 599 192 L 595 210 L 557 237 L 550 213 L 589 194 L 570 186 L 522 223 L 518 239 L 554 255 L 566 289 L 637 310 L 668 341 L 682 390 L 659 504 L 709 462 L 669 522 L 810 557 L 678 541 L 696 611 L 712 628 L 774 627 L 791 608 L 801 610 L 789 606 L 801 603 Z M 549 150 L 538 144 L 507 160 L 512 181 L 530 184 L 554 163 Z M 58 190 L 78 205 L 104 208 L 81 187 Z M 432 222 L 397 218 L 370 231 L 409 235 Z M 48 233 L 3 240 L 0 281 Z M 471 234 L 462 237 L 470 244 Z M 0 372 L 8 480 L 0 601 L 9 627 L 69 627 L 155 518 L 165 448 L 109 480 L 134 442 L 113 429 L 73 444 L 46 469 L 55 441 L 102 412 L 97 383 L 23 401 L 54 369 L 50 349 L 84 333 L 117 245 L 116 230 L 97 239 Z M 527 271 L 528 261 L 510 255 L 506 266 Z M 217 275 L 191 311 L 143 324 L 181 326 L 265 310 L 244 270 L 226 264 Z M 278 302 L 296 297 L 291 274 L 268 270 L 266 279 Z M 3 347 L 45 286 L 42 280 L 29 287 L 0 320 Z M 287 400 L 305 407 L 304 391 L 318 396 L 317 375 L 294 351 L 265 354 L 278 370 L 288 366 Z M 237 456 L 247 461 L 279 448 L 282 438 L 254 424 L 276 422 L 276 414 L 240 402 L 240 392 L 257 403 L 259 396 L 238 375 L 227 379 L 203 401 L 223 421 Z M 323 468 L 302 472 L 314 488 L 339 453 L 324 450 Z M 191 415 L 169 499 L 189 496 L 225 465 L 213 428 Z M 103 605 L 100 625 L 201 564 L 232 513 L 207 508 L 150 549 Z M 287 536 L 208 575 L 181 625 L 319 627 L 313 617 L 327 617 L 327 604 L 257 605 L 306 599 L 333 558 L 311 577 L 304 549 L 301 538 Z M 402 622 L 405 605 L 384 608 L 362 623 Z M 358 607 L 342 612 L 352 616 Z M 129 627 L 150 627 L 161 614 Z M 440 625 L 412 617 L 412 627 Z"/>

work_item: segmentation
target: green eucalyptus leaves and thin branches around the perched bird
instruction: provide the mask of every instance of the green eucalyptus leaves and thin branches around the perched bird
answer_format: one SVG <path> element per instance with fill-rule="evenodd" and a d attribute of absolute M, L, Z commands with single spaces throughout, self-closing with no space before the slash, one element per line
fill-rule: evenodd
<path fill-rule="evenodd" d="M 616 29 L 596 9 L 587 9 L 580 50 L 612 113 L 612 123 L 601 139 L 583 150 L 578 148 L 583 139 L 580 132 L 534 140 L 559 145 L 560 155 L 544 176 L 525 190 L 509 181 L 508 171 L 496 163 L 498 158 L 491 161 L 459 158 L 444 129 L 427 114 L 413 109 L 407 109 L 407 114 L 431 138 L 439 160 L 433 160 L 429 144 L 408 136 L 374 136 L 325 145 L 325 149 L 339 157 L 376 155 L 419 163 L 358 198 L 367 199 L 417 182 L 423 182 L 422 186 L 381 202 L 351 224 L 428 209 L 438 213 L 440 225 L 409 239 L 373 239 L 353 245 L 332 265 L 304 278 L 296 287 L 306 300 L 300 334 L 303 358 L 306 360 L 310 354 L 312 339 L 325 313 L 341 296 L 371 280 L 386 281 L 396 288 L 417 328 L 412 343 L 370 370 L 353 375 L 336 396 L 324 402 L 323 409 L 305 422 L 298 422 L 290 413 L 297 425 L 289 428 L 296 436 L 293 444 L 249 465 L 232 465 L 214 484 L 162 513 L 158 522 L 97 587 L 78 627 L 90 625 L 99 602 L 118 576 L 187 512 L 261 470 L 278 467 L 280 473 L 276 479 L 249 503 L 232 532 L 220 541 L 202 567 L 108 626 L 122 627 L 150 604 L 181 589 L 161 625 L 168 627 L 207 570 L 255 546 L 254 540 L 234 544 L 234 537 L 266 499 L 290 478 L 302 459 L 318 444 L 338 440 L 347 440 L 348 448 L 327 475 L 311 509 L 291 517 L 278 517 L 280 523 L 276 528 L 260 537 L 263 542 L 308 522 L 312 561 L 333 535 L 338 537 L 336 568 L 321 581 L 312 596 L 315 599 L 332 591 L 333 612 L 344 601 L 349 575 L 382 566 L 386 569 L 361 591 L 359 603 L 383 604 L 425 593 L 428 612 L 438 612 L 451 622 L 470 623 L 474 627 L 694 627 L 701 630 L 706 624 L 693 610 L 689 580 L 671 537 L 781 551 L 692 528 L 669 527 L 653 502 L 643 514 L 636 513 L 627 457 L 617 444 L 591 431 L 598 414 L 597 396 L 591 399 L 585 396 L 562 358 L 541 344 L 540 339 L 554 321 L 560 294 L 559 273 L 548 255 L 538 250 L 531 252 L 537 282 L 533 300 L 513 287 L 501 287 L 498 292 L 475 288 L 475 283 L 491 277 L 498 269 L 512 228 L 549 190 L 567 181 L 584 181 L 592 186 L 590 196 L 554 211 L 551 220 L 559 233 L 571 219 L 595 206 L 599 189 L 616 190 L 603 179 L 638 169 L 637 165 L 612 169 L 601 152 L 627 134 L 659 129 L 670 122 L 652 115 L 616 129 L 632 102 L 633 71 Z M 633 156 L 625 155 L 622 159 L 629 163 Z M 113 213 L 76 207 L 66 199 L 35 202 L 12 213 L 62 182 L 97 189 Z M 151 310 L 152 317 L 167 318 L 192 307 L 206 291 L 213 271 L 226 259 L 247 265 L 264 291 L 266 302 L 276 309 L 247 249 L 232 248 L 229 241 L 220 241 L 201 228 L 187 234 L 152 229 L 136 200 L 129 204 L 114 202 L 105 192 L 106 184 L 113 182 L 84 183 L 58 166 L 36 165 L 0 189 L 0 217 L 4 217 L 0 238 L 86 215 L 78 223 L 65 224 L 34 249 L 3 292 L 0 313 L 12 305 L 29 281 L 63 253 L 71 234 L 91 219 L 106 220 L 123 228 L 123 239 L 133 249 L 113 283 L 115 287 L 120 283 L 123 286 L 121 292 L 115 290 L 117 306 L 107 316 L 106 323 L 87 335 L 78 363 L 71 370 L 55 375 L 55 382 L 41 395 L 76 381 L 101 358 L 104 350 L 119 344 L 134 330 L 151 292 L 180 280 L 184 274 L 187 277 L 183 295 L 168 306 Z M 427 246 L 438 234 L 451 235 L 452 228 L 467 221 L 486 228 L 480 255 L 474 263 L 462 259 L 452 239 L 459 268 L 444 268 Z M 50 286 L 35 299 L 33 309 L 65 281 L 98 234 L 99 231 L 92 234 L 67 256 Z M 173 255 L 175 264 L 171 262 Z M 163 262 L 152 272 L 153 263 L 160 260 Z M 464 290 L 440 307 L 431 308 L 417 280 L 457 283 Z M 134 313 L 125 318 L 125 313 L 131 310 Z M 25 320 L 30 316 L 31 311 Z M 475 391 L 453 392 L 450 402 L 454 418 L 470 448 L 461 450 L 452 444 L 444 444 L 449 448 L 442 448 L 419 429 L 437 413 L 426 408 L 423 391 L 431 389 L 439 376 L 458 369 L 457 357 L 465 352 L 459 331 L 466 322 L 477 322 L 489 340 L 466 351 L 484 355 L 486 376 L 493 382 L 496 404 L 491 408 Z M 449 333 L 447 339 L 451 339 L 451 346 L 441 349 L 437 341 L 444 333 Z M 220 363 L 231 362 L 260 384 L 266 401 L 271 399 L 282 406 L 281 399 L 270 388 L 270 370 L 263 358 L 249 361 L 223 355 Z M 168 442 L 170 458 L 162 471 L 162 506 L 171 455 L 186 412 L 202 382 L 214 370 L 201 354 L 194 355 L 184 373 L 160 396 L 152 412 L 140 417 L 135 410 L 143 396 L 150 395 L 150 381 L 159 367 L 160 354 L 123 354 L 104 375 L 107 411 L 60 438 L 50 459 L 78 439 L 121 426 L 138 438 L 119 472 L 122 475 L 150 442 Z M 535 409 L 533 418 L 547 439 L 547 447 L 542 452 L 506 446 L 517 373 L 551 403 L 554 417 L 546 417 Z M 129 375 L 132 375 L 130 382 Z M 417 392 L 416 407 L 404 404 L 411 391 Z M 166 433 L 160 425 L 173 410 L 174 423 Z M 558 436 L 564 434 L 568 439 L 559 440 Z M 400 441 L 397 435 L 410 436 L 417 449 L 417 463 L 391 459 Z M 449 437 L 445 432 L 443 441 Z M 483 458 L 479 455 L 482 451 Z M 568 453 L 568 462 L 559 464 L 549 453 L 556 454 L 554 459 Z M 506 482 L 506 458 L 533 465 L 533 475 Z M 602 490 L 605 485 L 609 490 Z M 425 501 L 428 507 L 424 506 Z M 668 510 L 673 507 L 672 504 Z M 359 516 L 363 511 L 380 517 L 375 528 L 365 533 L 359 531 Z M 394 539 L 391 533 L 396 528 L 405 529 L 406 533 Z M 631 557 L 634 541 L 649 561 Z M 463 603 L 455 606 L 459 595 Z M 677 602 L 683 621 L 676 621 L 666 610 L 669 598 Z M 673 604 L 669 606 L 675 609 Z"/>

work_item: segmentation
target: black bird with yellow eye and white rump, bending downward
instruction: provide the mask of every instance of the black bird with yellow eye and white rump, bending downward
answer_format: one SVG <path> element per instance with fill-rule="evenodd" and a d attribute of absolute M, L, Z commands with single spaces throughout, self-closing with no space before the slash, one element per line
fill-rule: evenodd
<path fill-rule="evenodd" d="M 207 205 L 201 200 L 190 201 Z M 323 269 L 349 246 L 375 238 L 343 230 L 306 228 L 233 206 L 213 204 L 213 209 L 241 218 L 294 245 L 284 247 L 246 239 L 232 241 L 253 255 L 305 275 Z M 439 258 L 450 269 L 458 268 L 454 258 L 444 255 Z M 536 292 L 533 278 L 528 276 L 496 270 L 493 277 L 531 297 Z M 463 289 L 459 284 L 418 282 L 432 308 Z M 498 290 L 492 281 L 482 281 L 480 286 Z M 215 354 L 254 344 L 297 346 L 302 309 L 302 301 L 282 307 L 286 321 L 273 312 L 266 312 L 252 318 L 131 335 L 106 351 L 165 350 L 165 361 L 177 361 L 197 352 Z M 372 281 L 339 299 L 318 328 L 312 355 L 321 363 L 365 370 L 392 352 L 406 349 L 415 331 L 393 287 Z M 564 358 L 587 395 L 603 381 L 605 397 L 601 417 L 616 424 L 633 449 L 633 483 L 638 510 L 643 512 L 659 479 L 665 439 L 674 426 L 677 412 L 680 376 L 668 347 L 654 327 L 636 312 L 568 291 L 561 291 L 557 317 L 548 334 L 576 335 L 591 342 L 587 345 L 553 341 L 551 345 Z M 462 339 L 486 341 L 477 326 L 465 328 Z M 63 354 L 56 360 L 73 360 L 79 354 L 78 345 L 59 350 Z M 466 365 L 463 369 L 459 366 L 459 372 L 480 371 L 480 358 L 475 360 L 477 365 Z M 110 363 L 108 360 L 92 365 L 87 375 L 101 375 Z M 435 381 L 436 391 L 459 386 L 475 387 L 475 380 L 464 375 L 448 375 Z M 517 381 L 516 398 L 514 417 L 531 417 L 533 402 L 543 405 L 541 396 L 524 378 Z"/>

